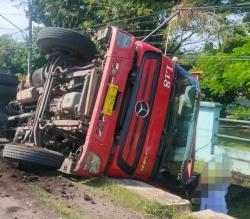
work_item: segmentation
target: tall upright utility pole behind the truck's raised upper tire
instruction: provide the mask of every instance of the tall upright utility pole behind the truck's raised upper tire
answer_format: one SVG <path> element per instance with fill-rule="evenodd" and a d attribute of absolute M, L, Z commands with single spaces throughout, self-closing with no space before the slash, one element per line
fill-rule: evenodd
<path fill-rule="evenodd" d="M 28 77 L 32 71 L 32 0 L 28 0 L 29 38 L 28 38 Z"/>

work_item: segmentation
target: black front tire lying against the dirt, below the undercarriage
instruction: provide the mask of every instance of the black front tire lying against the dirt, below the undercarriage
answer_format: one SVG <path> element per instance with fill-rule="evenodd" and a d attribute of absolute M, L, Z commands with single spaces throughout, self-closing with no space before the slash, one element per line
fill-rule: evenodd
<path fill-rule="evenodd" d="M 30 166 L 60 168 L 64 156 L 58 152 L 21 144 L 6 144 L 3 158 Z"/>

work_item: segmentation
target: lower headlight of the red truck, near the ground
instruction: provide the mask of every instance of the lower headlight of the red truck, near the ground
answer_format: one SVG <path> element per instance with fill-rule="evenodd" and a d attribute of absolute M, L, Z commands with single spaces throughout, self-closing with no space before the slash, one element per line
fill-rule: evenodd
<path fill-rule="evenodd" d="M 97 174 L 101 168 L 101 158 L 93 152 L 89 152 L 85 161 L 84 170 Z"/>

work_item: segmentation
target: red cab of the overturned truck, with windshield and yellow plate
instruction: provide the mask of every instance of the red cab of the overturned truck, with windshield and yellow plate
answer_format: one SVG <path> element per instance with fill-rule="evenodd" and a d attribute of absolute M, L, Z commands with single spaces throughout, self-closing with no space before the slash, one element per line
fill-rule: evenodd
<path fill-rule="evenodd" d="M 200 87 L 170 57 L 107 27 L 105 66 L 85 144 L 70 171 L 148 181 L 192 176 Z M 67 169 L 64 162 L 61 170 Z"/>

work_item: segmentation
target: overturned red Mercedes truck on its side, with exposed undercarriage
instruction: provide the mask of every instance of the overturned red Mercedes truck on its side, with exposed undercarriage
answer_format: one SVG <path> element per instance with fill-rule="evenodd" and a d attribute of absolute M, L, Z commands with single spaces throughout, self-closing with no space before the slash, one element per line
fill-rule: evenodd
<path fill-rule="evenodd" d="M 78 176 L 143 181 L 193 174 L 198 82 L 152 45 L 116 28 L 100 29 L 104 57 L 79 33 L 44 28 L 47 63 L 9 105 L 18 114 L 3 157 Z"/>

